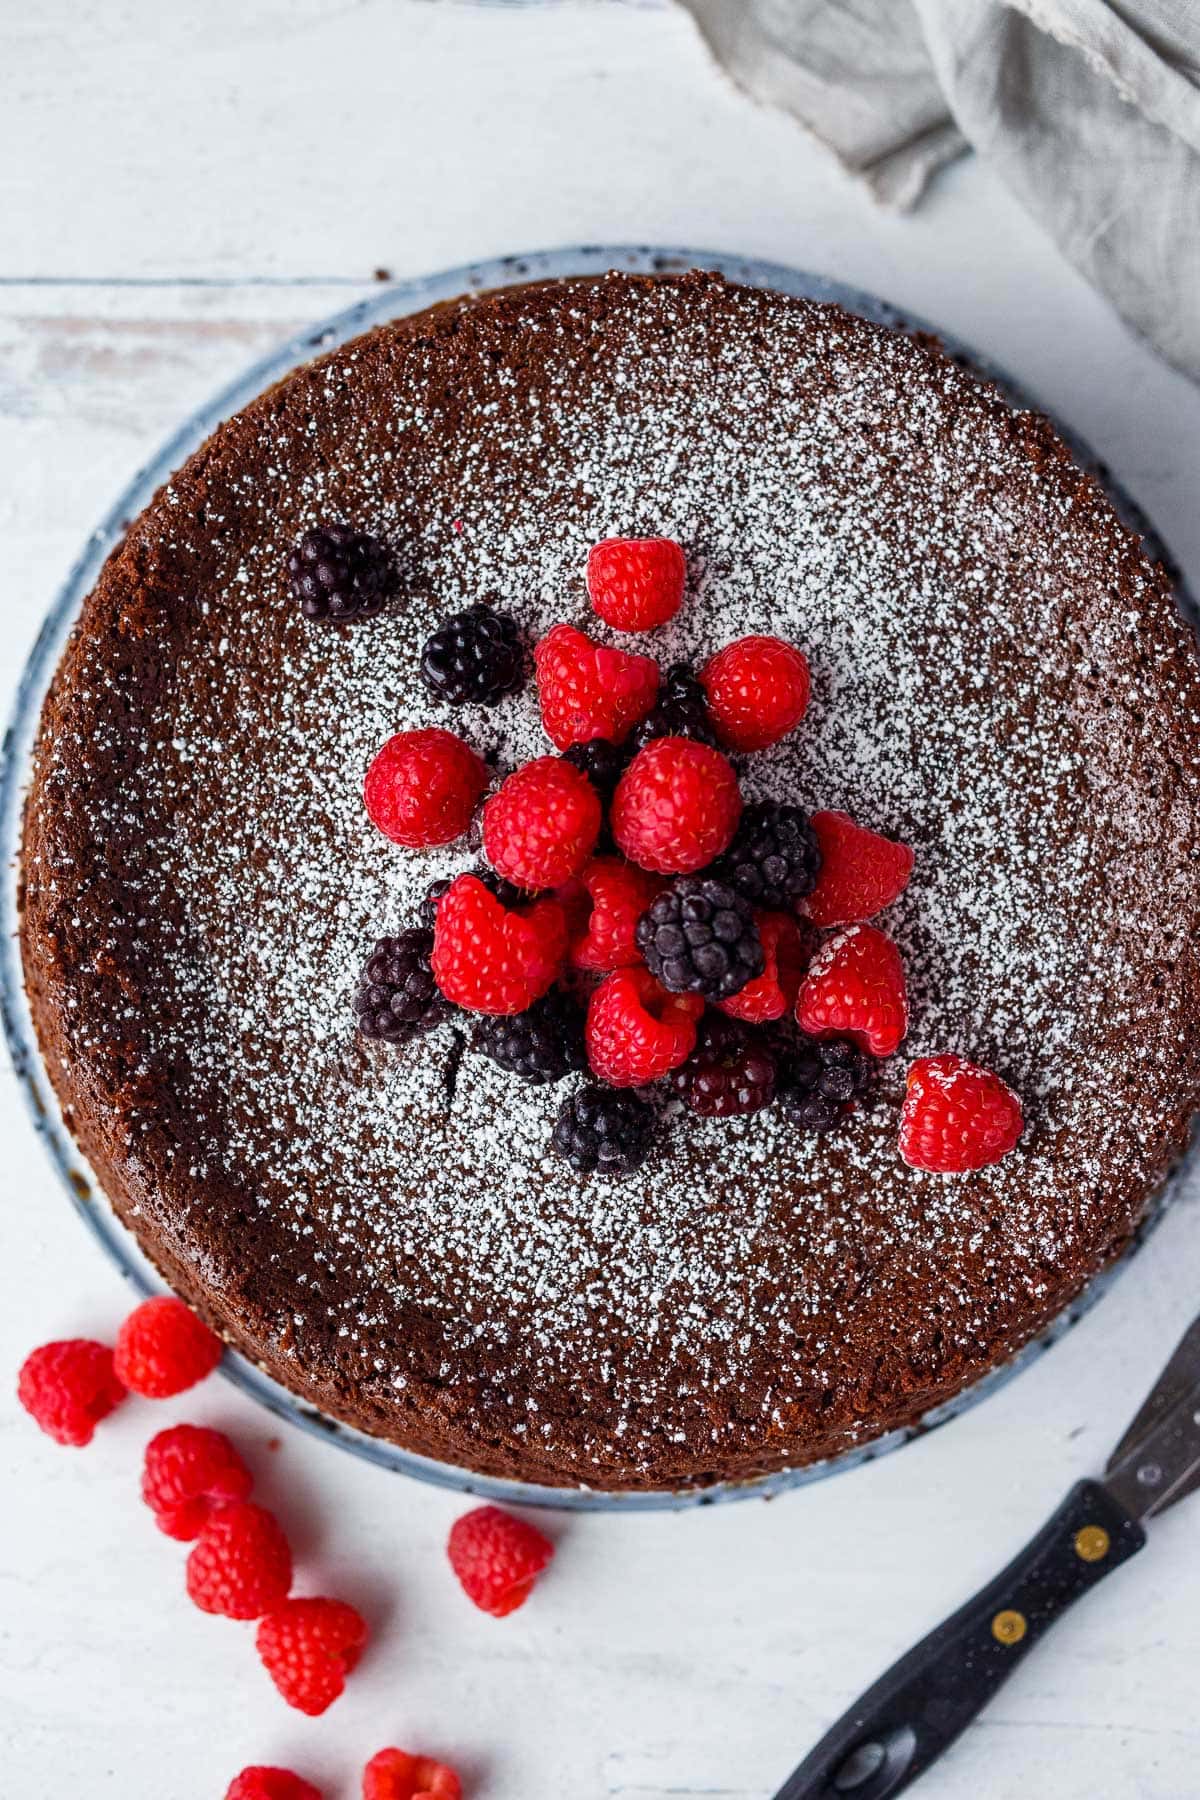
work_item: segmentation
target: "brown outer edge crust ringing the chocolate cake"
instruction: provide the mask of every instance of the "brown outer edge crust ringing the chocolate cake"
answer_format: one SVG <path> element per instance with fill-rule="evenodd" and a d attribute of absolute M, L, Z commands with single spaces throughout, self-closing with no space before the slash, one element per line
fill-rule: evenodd
<path fill-rule="evenodd" d="M 421 313 L 376 326 L 360 338 L 354 338 L 353 344 L 367 346 L 371 340 L 419 335 L 428 333 L 430 329 L 437 335 L 439 331 L 453 329 L 455 317 L 470 308 L 504 304 L 516 293 L 527 295 L 529 292 L 540 288 L 561 288 L 567 284 L 579 286 L 606 279 L 613 277 L 561 277 L 556 281 L 529 283 L 520 288 L 500 288 L 462 295 L 459 299 L 437 302 Z M 720 281 L 721 277 L 622 275 L 617 279 L 626 281 L 630 286 L 657 286 L 662 283 L 678 284 L 689 281 Z M 817 306 L 819 302 L 810 304 Z M 858 315 L 847 315 L 846 310 L 837 304 L 820 302 L 820 310 L 831 315 L 853 317 L 858 324 L 862 324 Z M 885 331 L 892 328 L 873 326 L 873 329 Z M 950 356 L 934 335 L 927 331 L 909 335 L 919 338 L 919 342 L 934 356 L 954 362 L 959 371 L 963 369 L 961 358 Z M 336 360 L 347 347 L 349 346 L 345 344 L 336 346 L 335 349 L 311 358 L 309 362 L 290 371 L 279 382 L 272 383 L 272 387 L 250 401 L 248 407 L 243 407 L 232 419 L 219 425 L 205 445 L 193 452 L 182 468 L 171 477 L 173 484 L 178 486 L 180 482 L 203 479 L 207 459 L 214 454 L 214 448 L 219 448 L 225 443 L 225 436 L 232 432 L 239 421 L 246 416 L 264 414 L 279 391 L 284 389 L 293 378 L 309 374 L 324 364 Z M 1182 608 L 1178 607 L 1169 574 L 1160 563 L 1150 562 L 1137 535 L 1115 517 L 1101 484 L 1092 473 L 1076 463 L 1054 425 L 1040 414 L 1015 412 L 993 382 L 975 374 L 973 371 L 968 371 L 968 374 L 977 383 L 979 392 L 988 398 L 990 405 L 999 409 L 1009 421 L 1009 428 L 1020 439 L 1024 452 L 1038 463 L 1042 473 L 1058 481 L 1074 504 L 1079 504 L 1081 500 L 1092 504 L 1097 518 L 1106 524 L 1114 549 L 1123 558 L 1128 558 L 1130 554 L 1137 558 L 1142 572 L 1153 576 L 1153 590 L 1159 599 L 1166 601 L 1166 605 L 1178 617 Z M 1065 1271 L 1061 1280 L 1056 1282 L 1047 1292 L 1045 1305 L 1036 1312 L 1027 1312 L 1022 1318 L 1020 1327 L 1011 1330 L 1004 1343 L 993 1346 L 990 1359 L 986 1363 L 981 1359 L 979 1366 L 972 1372 L 970 1381 L 964 1382 L 961 1373 L 955 1370 L 945 1381 L 925 1386 L 914 1384 L 914 1388 L 903 1397 L 903 1402 L 892 1406 L 887 1417 L 873 1418 L 869 1424 L 860 1422 L 849 1431 L 831 1431 L 826 1438 L 806 1444 L 799 1453 L 793 1447 L 792 1451 L 772 1449 L 770 1453 L 761 1454 L 747 1453 L 741 1456 L 725 1456 L 720 1467 L 714 1469 L 696 1469 L 694 1465 L 680 1465 L 678 1469 L 664 1465 L 655 1471 L 613 1467 L 597 1471 L 594 1480 L 583 1483 L 579 1481 L 578 1469 L 565 1469 L 563 1463 L 552 1454 L 545 1456 L 538 1453 L 534 1445 L 520 1445 L 520 1453 L 516 1453 L 516 1449 L 507 1445 L 484 1444 L 471 1436 L 470 1431 L 453 1429 L 450 1420 L 426 1413 L 419 1409 L 419 1406 L 412 1404 L 401 1408 L 401 1404 L 396 1402 L 385 1415 L 381 1408 L 363 1404 L 362 1395 L 344 1391 L 335 1379 L 324 1377 L 320 1370 L 300 1364 L 295 1355 L 288 1354 L 290 1346 L 281 1345 L 279 1350 L 272 1354 L 270 1346 L 255 1339 L 250 1323 L 243 1321 L 227 1309 L 223 1296 L 205 1283 L 203 1274 L 191 1262 L 176 1255 L 176 1249 L 167 1240 L 164 1229 L 144 1211 L 142 1195 L 137 1186 L 137 1174 L 130 1163 L 128 1145 L 122 1136 L 122 1105 L 128 1105 L 128 1096 L 122 1096 L 119 1089 L 104 1091 L 97 1071 L 85 1062 L 77 1062 L 70 1053 L 70 1037 L 63 1017 L 61 995 L 58 994 L 58 983 L 54 979 L 56 963 L 59 959 L 58 949 L 45 931 L 36 900 L 31 902 L 31 896 L 25 893 L 23 880 L 25 864 L 31 851 L 36 848 L 38 826 L 32 801 L 38 794 L 43 770 L 43 745 L 54 736 L 59 695 L 70 689 L 79 646 L 88 641 L 92 628 L 97 623 L 108 626 L 110 621 L 119 616 L 122 596 L 126 596 L 130 589 L 137 590 L 140 585 L 140 533 L 146 520 L 153 515 L 162 491 L 164 490 L 160 488 L 142 515 L 131 522 L 122 542 L 113 547 L 104 562 L 97 583 L 83 605 L 79 621 L 72 630 L 67 650 L 63 652 L 43 702 L 38 743 L 34 747 L 32 781 L 25 799 L 22 826 L 22 877 L 18 887 L 20 949 L 31 1017 L 41 1049 L 43 1066 L 59 1100 L 70 1134 L 83 1150 L 83 1156 L 112 1202 L 117 1217 L 133 1233 L 148 1260 L 234 1350 L 246 1357 L 246 1361 L 291 1391 L 302 1404 L 313 1406 L 318 1413 L 326 1413 L 369 1436 L 394 1442 L 405 1451 L 441 1463 L 457 1465 L 468 1472 L 513 1481 L 534 1481 L 549 1487 L 588 1487 L 617 1492 L 671 1492 L 709 1487 L 718 1481 L 736 1485 L 788 1469 L 801 1469 L 817 1462 L 826 1462 L 847 1451 L 869 1445 L 876 1438 L 883 1438 L 894 1431 L 918 1424 L 930 1409 L 952 1400 L 955 1395 L 970 1393 L 979 1381 L 982 1381 L 995 1368 L 1009 1363 L 1011 1357 L 1016 1355 L 1031 1339 L 1038 1337 L 1038 1334 L 1043 1332 L 1054 1318 L 1078 1300 L 1083 1289 L 1103 1269 L 1117 1262 L 1128 1249 L 1137 1226 L 1159 1202 L 1171 1170 L 1186 1150 L 1193 1116 L 1200 1109 L 1200 1051 L 1193 1053 L 1191 1058 L 1193 1071 L 1187 1098 L 1182 1105 L 1171 1109 L 1162 1118 L 1159 1145 L 1153 1154 L 1159 1175 L 1141 1195 L 1130 1197 L 1130 1206 L 1121 1219 L 1114 1219 L 1112 1231 L 1108 1233 L 1099 1255 L 1092 1256 L 1083 1267 Z M 1096 508 L 1097 500 L 1101 502 L 1099 508 Z M 1191 621 L 1186 623 L 1191 626 Z M 1200 713 L 1200 661 L 1195 655 L 1195 648 L 1189 657 L 1189 668 L 1180 673 L 1184 677 L 1184 686 L 1191 689 Z M 1200 943 L 1191 945 L 1189 954 L 1180 958 L 1175 972 L 1180 992 L 1180 1017 L 1193 1021 L 1196 1035 L 1200 1037 Z"/>

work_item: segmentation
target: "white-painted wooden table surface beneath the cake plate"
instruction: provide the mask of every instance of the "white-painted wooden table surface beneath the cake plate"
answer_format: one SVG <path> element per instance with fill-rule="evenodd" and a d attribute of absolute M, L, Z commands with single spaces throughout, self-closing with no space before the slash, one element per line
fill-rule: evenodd
<path fill-rule="evenodd" d="M 374 270 L 587 241 L 698 243 L 889 295 L 1006 364 L 1110 461 L 1200 580 L 1200 392 L 1157 364 L 961 164 L 876 212 L 739 99 L 658 5 L 43 0 L 0 9 L 4 704 L 56 583 L 157 441 Z M 126 1303 L 0 1076 L 0 1368 Z M 219 1379 L 128 1406 L 86 1453 L 0 1400 L 0 1791 L 219 1800 L 293 1762 L 327 1800 L 385 1742 L 479 1800 L 765 1800 L 914 1634 L 1096 1469 L 1200 1305 L 1195 1197 L 1117 1289 L 986 1406 L 772 1505 L 563 1517 L 506 1624 L 453 1588 L 461 1503 L 286 1431 Z M 290 1714 L 250 1631 L 196 1613 L 137 1499 L 178 1418 L 236 1431 L 308 1591 L 376 1624 L 345 1699 Z M 919 1789 L 977 1800 L 1200 1793 L 1200 1503 L 1063 1622 Z"/>

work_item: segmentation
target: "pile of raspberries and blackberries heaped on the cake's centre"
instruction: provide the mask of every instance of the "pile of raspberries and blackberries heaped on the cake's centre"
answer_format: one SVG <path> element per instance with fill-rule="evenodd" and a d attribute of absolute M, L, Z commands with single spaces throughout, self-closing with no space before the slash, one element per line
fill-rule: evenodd
<path fill-rule="evenodd" d="M 613 632 L 653 630 L 684 605 L 684 551 L 608 538 L 587 587 Z M 801 1132 L 840 1125 L 909 1028 L 900 950 L 871 922 L 914 859 L 844 812 L 743 803 L 732 758 L 801 724 L 804 655 L 754 635 L 660 673 L 561 623 L 531 661 L 558 754 L 486 799 L 482 758 L 437 725 L 389 738 L 367 769 L 367 812 L 387 837 L 448 844 L 479 812 L 484 864 L 435 884 L 421 918 L 371 949 L 360 1030 L 403 1044 L 466 1012 L 471 1048 L 516 1080 L 587 1075 L 551 1132 L 583 1174 L 640 1166 L 671 1098 L 703 1118 L 775 1105 Z M 421 668 L 441 700 L 493 706 L 525 679 L 520 630 L 471 607 L 434 634 Z M 966 1069 L 948 1091 L 914 1066 L 900 1143 L 914 1166 L 977 1168 L 1020 1132 L 1016 1098 L 986 1071 L 972 1080 L 1002 1102 L 970 1085 Z"/>

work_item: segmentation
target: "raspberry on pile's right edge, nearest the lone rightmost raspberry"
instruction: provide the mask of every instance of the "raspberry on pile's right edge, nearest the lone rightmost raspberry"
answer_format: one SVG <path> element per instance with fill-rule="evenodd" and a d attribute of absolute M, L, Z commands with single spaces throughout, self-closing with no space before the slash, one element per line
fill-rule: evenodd
<path fill-rule="evenodd" d="M 810 1037 L 849 1037 L 891 1057 L 909 1030 L 900 950 L 876 925 L 849 925 L 820 947 L 801 985 L 795 1022 Z"/>

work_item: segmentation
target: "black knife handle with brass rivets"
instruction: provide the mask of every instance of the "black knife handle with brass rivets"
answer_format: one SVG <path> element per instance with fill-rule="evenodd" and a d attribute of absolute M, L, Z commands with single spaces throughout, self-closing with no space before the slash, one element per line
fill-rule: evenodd
<path fill-rule="evenodd" d="M 936 1762 L 1043 1631 L 1146 1543 L 1097 1481 L 1078 1481 L 993 1582 L 867 1688 L 775 1800 L 891 1800 Z"/>

